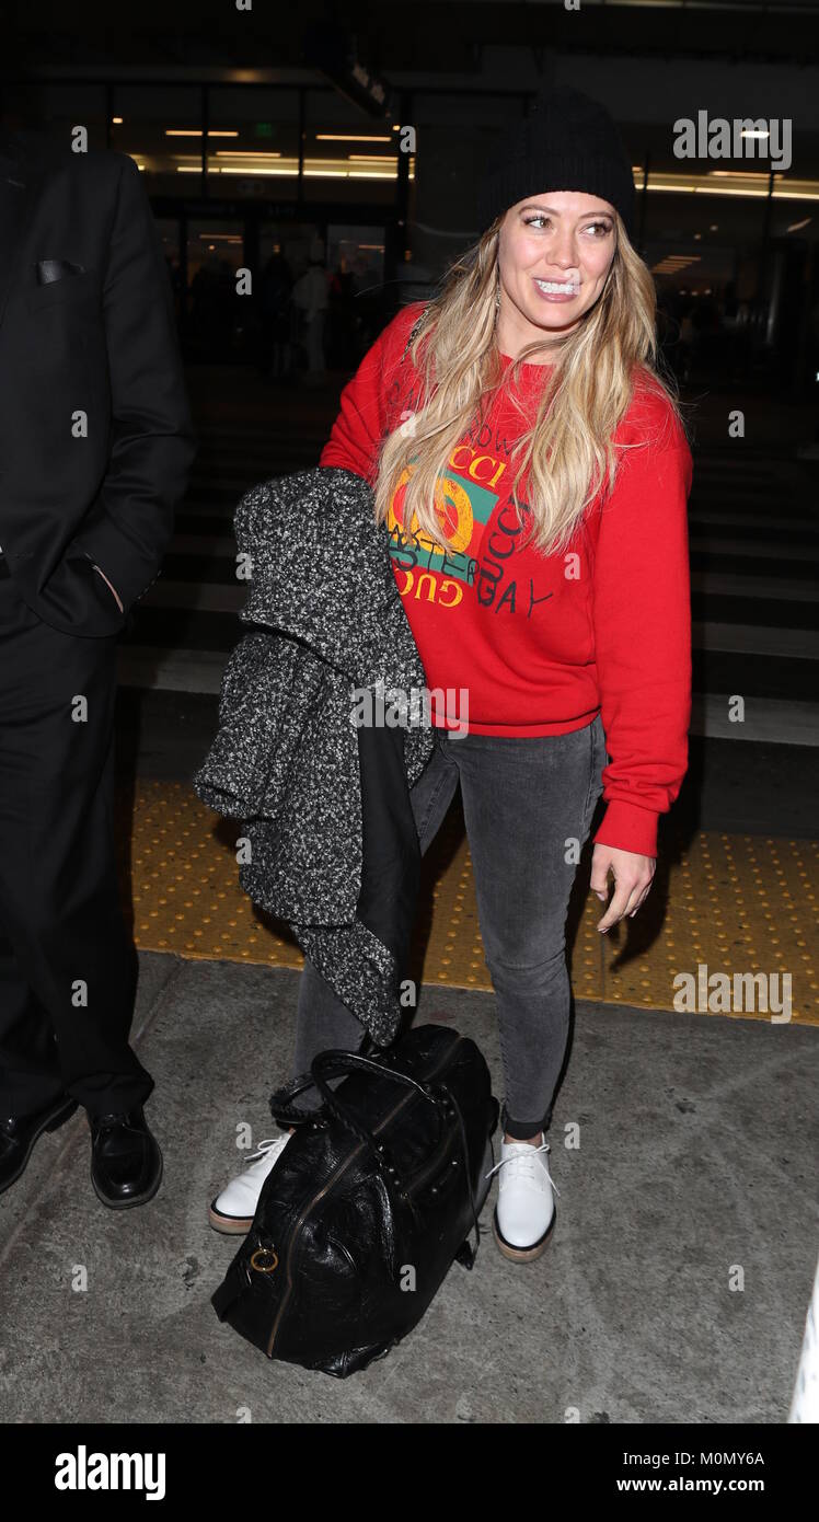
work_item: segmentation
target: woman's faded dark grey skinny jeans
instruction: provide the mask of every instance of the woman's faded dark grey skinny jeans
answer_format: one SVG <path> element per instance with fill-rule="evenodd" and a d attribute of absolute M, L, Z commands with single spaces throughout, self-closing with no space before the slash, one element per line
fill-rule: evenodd
<path fill-rule="evenodd" d="M 571 988 L 566 913 L 578 848 L 603 791 L 600 715 L 568 735 L 534 738 L 435 731 L 410 790 L 422 854 L 460 784 L 486 963 L 495 989 L 504 1065 L 504 1126 L 528 1138 L 548 1128 L 566 1052 Z M 362 1027 L 317 968 L 300 979 L 294 1071 L 317 1052 L 356 1052 Z M 306 1108 L 315 1091 L 298 1097 Z"/>

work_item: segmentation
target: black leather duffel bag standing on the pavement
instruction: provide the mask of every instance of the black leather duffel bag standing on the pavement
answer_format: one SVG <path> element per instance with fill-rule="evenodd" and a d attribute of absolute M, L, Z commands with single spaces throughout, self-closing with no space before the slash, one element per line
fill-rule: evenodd
<path fill-rule="evenodd" d="M 499 1106 L 480 1049 L 446 1026 L 321 1052 L 311 1075 L 271 1097 L 295 1132 L 212 1303 L 268 1358 L 346 1379 L 413 1330 L 455 1259 L 472 1268 Z M 323 1106 L 298 1110 L 314 1085 Z"/>

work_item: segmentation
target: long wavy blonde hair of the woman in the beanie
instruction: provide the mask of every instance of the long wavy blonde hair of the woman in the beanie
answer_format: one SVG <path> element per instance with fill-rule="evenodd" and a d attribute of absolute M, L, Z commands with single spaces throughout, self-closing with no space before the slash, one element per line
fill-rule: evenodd
<path fill-rule="evenodd" d="M 452 451 L 480 420 L 487 394 L 518 385 L 519 365 L 545 358 L 554 368 L 545 373 L 533 423 L 513 397 L 524 431 L 511 451 L 511 463 L 518 466 L 511 498 L 524 528 L 518 487 L 528 476 L 530 537 L 543 554 L 554 554 L 566 549 L 601 486 L 606 493 L 613 487 L 618 451 L 612 434 L 629 409 L 638 376 L 670 403 L 667 420 L 676 416 L 684 425 L 676 384 L 658 370 L 655 283 L 617 213 L 617 250 L 592 309 L 568 336 L 528 344 L 504 373 L 496 342 L 504 216 L 451 265 L 441 292 L 417 324 L 410 355 L 420 371 L 425 400 L 408 428 L 397 428 L 381 443 L 374 517 L 376 524 L 388 519 L 393 495 L 406 482 L 406 533 L 423 531 L 440 543 Z M 466 548 L 455 546 L 452 539 L 449 545 Z"/>

